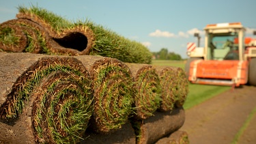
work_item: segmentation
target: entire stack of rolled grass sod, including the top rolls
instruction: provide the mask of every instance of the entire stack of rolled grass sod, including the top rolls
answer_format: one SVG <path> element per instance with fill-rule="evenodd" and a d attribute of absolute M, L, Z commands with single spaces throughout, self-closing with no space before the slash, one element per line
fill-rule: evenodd
<path fill-rule="evenodd" d="M 181 68 L 89 20 L 18 10 L 0 24 L 0 142 L 156 143 L 184 124 Z"/>

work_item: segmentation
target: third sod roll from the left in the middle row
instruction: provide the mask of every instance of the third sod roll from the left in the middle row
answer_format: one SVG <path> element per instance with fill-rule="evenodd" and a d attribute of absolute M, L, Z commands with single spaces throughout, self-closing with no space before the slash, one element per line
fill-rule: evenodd
<path fill-rule="evenodd" d="M 147 64 L 126 63 L 134 77 L 134 112 L 137 119 L 153 116 L 159 108 L 162 87 L 156 70 Z"/>

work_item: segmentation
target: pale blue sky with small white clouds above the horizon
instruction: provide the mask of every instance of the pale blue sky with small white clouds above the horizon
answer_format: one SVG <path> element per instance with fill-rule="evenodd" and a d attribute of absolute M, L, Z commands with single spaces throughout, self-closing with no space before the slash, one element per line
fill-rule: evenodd
<path fill-rule="evenodd" d="M 88 18 L 152 52 L 167 48 L 184 58 L 186 44 L 197 42 L 193 33 L 203 36 L 207 24 L 241 22 L 248 36 L 256 29 L 255 0 L 0 0 L 0 23 L 14 19 L 18 5 L 38 5 L 68 20 Z"/>

